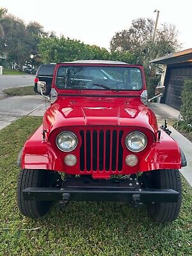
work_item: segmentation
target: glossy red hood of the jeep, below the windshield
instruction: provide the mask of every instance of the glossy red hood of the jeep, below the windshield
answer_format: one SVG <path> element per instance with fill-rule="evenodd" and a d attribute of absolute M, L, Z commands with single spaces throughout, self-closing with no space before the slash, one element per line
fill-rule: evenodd
<path fill-rule="evenodd" d="M 139 98 L 70 98 L 57 100 L 44 115 L 48 134 L 67 126 L 120 125 L 145 127 L 157 132 L 154 113 Z"/>

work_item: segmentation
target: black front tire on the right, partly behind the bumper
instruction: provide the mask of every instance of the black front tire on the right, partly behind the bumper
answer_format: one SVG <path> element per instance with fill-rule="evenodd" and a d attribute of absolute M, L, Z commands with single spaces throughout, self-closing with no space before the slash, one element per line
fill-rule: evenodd
<path fill-rule="evenodd" d="M 177 169 L 154 170 L 146 173 L 149 179 L 150 188 L 174 189 L 179 192 L 177 203 L 154 203 L 148 205 L 148 212 L 154 221 L 165 223 L 177 219 L 181 200 L 182 185 L 180 173 Z"/>

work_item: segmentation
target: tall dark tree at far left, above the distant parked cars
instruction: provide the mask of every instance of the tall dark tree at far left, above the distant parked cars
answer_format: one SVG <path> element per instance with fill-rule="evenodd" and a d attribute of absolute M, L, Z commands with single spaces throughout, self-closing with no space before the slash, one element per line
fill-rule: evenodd
<path fill-rule="evenodd" d="M 22 71 L 26 60 L 31 55 L 36 56 L 40 37 L 46 33 L 37 22 L 29 22 L 26 26 L 23 20 L 13 15 L 5 15 L 2 26 L 4 37 L 0 38 L 1 51 L 6 53 L 8 61 L 17 63 Z"/>

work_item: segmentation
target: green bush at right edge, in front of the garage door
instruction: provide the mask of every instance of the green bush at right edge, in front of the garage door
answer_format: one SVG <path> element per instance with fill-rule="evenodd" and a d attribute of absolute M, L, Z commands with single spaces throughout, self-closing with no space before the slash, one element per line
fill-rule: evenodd
<path fill-rule="evenodd" d="M 181 93 L 180 113 L 187 124 L 192 125 L 192 79 L 186 80 Z"/>

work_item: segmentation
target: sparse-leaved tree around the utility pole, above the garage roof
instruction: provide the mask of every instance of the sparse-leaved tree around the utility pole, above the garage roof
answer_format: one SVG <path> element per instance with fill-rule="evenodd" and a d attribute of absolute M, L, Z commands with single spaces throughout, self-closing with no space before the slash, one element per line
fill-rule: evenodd
<path fill-rule="evenodd" d="M 152 42 L 154 20 L 132 20 L 131 27 L 127 30 L 116 32 L 110 42 L 111 52 L 129 51 L 136 56 L 137 63 L 143 64 L 148 72 L 149 61 L 179 49 L 177 30 L 172 24 L 161 24 L 156 31 L 155 42 Z M 150 76 L 154 76 L 152 67 Z"/>

